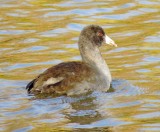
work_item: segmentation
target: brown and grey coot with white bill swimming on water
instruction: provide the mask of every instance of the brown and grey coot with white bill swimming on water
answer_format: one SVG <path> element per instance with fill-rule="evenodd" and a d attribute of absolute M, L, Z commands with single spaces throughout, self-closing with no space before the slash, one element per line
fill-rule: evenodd
<path fill-rule="evenodd" d="M 84 27 L 78 41 L 82 61 L 63 62 L 50 67 L 28 83 L 28 93 L 76 95 L 93 90 L 106 92 L 112 77 L 99 50 L 103 44 L 117 47 L 102 27 Z"/>

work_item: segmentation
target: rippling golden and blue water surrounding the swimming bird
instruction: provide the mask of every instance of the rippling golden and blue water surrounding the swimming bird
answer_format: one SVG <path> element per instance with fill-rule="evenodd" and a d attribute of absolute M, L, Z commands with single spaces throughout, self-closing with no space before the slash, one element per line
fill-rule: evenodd
<path fill-rule="evenodd" d="M 0 1 L 0 131 L 160 131 L 159 0 Z M 26 84 L 46 68 L 80 60 L 77 40 L 101 25 L 113 91 L 33 99 Z"/>

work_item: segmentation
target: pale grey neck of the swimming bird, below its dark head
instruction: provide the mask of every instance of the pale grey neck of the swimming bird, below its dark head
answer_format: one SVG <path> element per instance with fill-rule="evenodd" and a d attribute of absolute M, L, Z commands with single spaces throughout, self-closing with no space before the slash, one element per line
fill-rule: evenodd
<path fill-rule="evenodd" d="M 91 66 L 103 82 L 110 85 L 112 80 L 111 74 L 105 60 L 102 58 L 99 48 L 97 46 L 93 47 L 93 45 L 79 45 L 79 50 L 82 61 Z"/>

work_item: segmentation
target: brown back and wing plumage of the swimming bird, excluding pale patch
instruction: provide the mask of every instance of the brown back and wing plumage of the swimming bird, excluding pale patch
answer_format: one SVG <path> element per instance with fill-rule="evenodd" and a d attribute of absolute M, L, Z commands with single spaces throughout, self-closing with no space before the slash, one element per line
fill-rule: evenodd
<path fill-rule="evenodd" d="M 56 93 L 66 94 L 66 92 L 75 87 L 75 85 L 88 76 L 93 75 L 93 70 L 83 62 L 64 62 L 55 65 L 44 73 L 40 74 L 36 79 L 31 81 L 27 86 L 29 93 Z M 49 78 L 62 78 L 60 81 L 43 86 Z M 68 85 L 69 84 L 69 85 Z M 32 89 L 34 86 L 34 89 Z M 42 87 L 43 86 L 43 87 Z"/>

